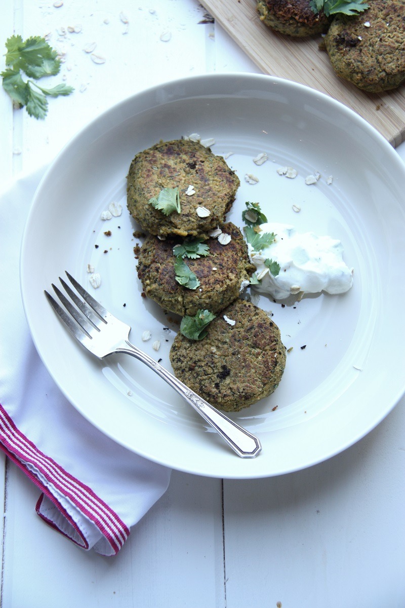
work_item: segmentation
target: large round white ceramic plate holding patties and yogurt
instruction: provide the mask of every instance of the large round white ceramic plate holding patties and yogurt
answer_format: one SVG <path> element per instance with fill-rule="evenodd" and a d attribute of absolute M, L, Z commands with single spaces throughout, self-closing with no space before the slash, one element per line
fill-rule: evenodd
<path fill-rule="evenodd" d="M 141 297 L 133 247 L 137 226 L 125 208 L 135 153 L 160 139 L 213 137 L 241 185 L 228 219 L 242 226 L 245 201 L 268 219 L 338 238 L 355 269 L 345 295 L 282 306 L 266 297 L 285 346 L 284 378 L 268 399 L 232 415 L 263 450 L 242 460 L 174 391 L 130 357 L 94 359 L 64 330 L 43 289 L 67 269 L 132 326 L 131 340 L 170 368 L 176 320 Z M 253 157 L 265 151 L 261 166 Z M 291 166 L 296 179 L 277 174 Z M 316 185 L 305 177 L 319 171 Z M 248 184 L 245 174 L 259 178 Z M 328 176 L 333 177 L 327 184 Z M 405 168 L 390 145 L 349 109 L 316 91 L 262 75 L 207 75 L 168 83 L 120 103 L 76 136 L 44 176 L 27 221 L 21 286 L 44 364 L 75 406 L 106 435 L 175 469 L 252 478 L 302 469 L 363 437 L 405 388 L 403 280 Z M 118 201 L 123 214 L 100 215 Z M 294 212 L 293 204 L 301 207 Z M 104 232 L 111 230 L 111 236 Z M 149 342 L 142 342 L 150 330 Z M 160 340 L 155 352 L 152 343 Z M 305 348 L 304 348 L 305 346 Z"/>

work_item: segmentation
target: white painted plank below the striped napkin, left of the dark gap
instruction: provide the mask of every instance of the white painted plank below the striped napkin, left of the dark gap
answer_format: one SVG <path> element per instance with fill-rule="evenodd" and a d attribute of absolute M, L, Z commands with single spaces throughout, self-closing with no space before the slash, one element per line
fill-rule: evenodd
<path fill-rule="evenodd" d="M 11 464 L 2 606 L 225 608 L 220 480 L 174 472 L 114 558 L 49 528 L 35 514 L 38 496 Z"/>

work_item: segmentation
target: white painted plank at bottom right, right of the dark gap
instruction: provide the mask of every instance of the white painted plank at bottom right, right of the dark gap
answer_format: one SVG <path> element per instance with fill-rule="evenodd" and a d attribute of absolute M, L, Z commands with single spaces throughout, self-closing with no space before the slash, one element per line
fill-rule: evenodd
<path fill-rule="evenodd" d="M 225 482 L 227 608 L 403 608 L 405 399 L 306 471 Z"/>

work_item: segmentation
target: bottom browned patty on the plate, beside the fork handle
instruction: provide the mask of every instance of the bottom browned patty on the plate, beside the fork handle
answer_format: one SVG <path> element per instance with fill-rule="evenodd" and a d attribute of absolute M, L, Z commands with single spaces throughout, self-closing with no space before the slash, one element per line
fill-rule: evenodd
<path fill-rule="evenodd" d="M 223 315 L 235 324 L 230 325 Z M 237 412 L 277 388 L 285 368 L 279 328 L 246 300 L 235 300 L 202 340 L 177 334 L 170 350 L 175 376 L 217 409 Z"/>

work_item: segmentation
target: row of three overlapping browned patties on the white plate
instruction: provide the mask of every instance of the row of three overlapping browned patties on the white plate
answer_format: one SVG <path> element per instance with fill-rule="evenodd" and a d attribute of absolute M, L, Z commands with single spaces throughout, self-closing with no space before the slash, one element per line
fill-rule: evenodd
<path fill-rule="evenodd" d="M 192 139 L 159 142 L 138 153 L 127 177 L 128 210 L 148 233 L 138 256 L 145 295 L 182 317 L 215 315 L 203 339 L 181 332 L 175 337 L 170 351 L 175 376 L 228 412 L 270 395 L 285 367 L 279 328 L 239 297 L 254 272 L 242 233 L 225 221 L 239 185 L 222 156 Z M 168 213 L 156 201 L 175 188 L 179 205 Z M 177 246 L 185 250 L 196 242 L 208 247 L 208 255 L 185 256 L 197 282 L 181 284 Z"/>

